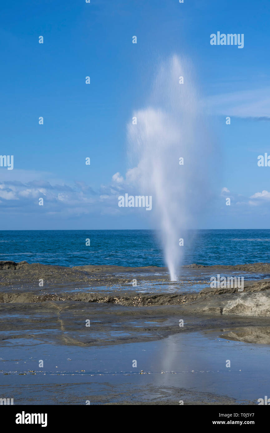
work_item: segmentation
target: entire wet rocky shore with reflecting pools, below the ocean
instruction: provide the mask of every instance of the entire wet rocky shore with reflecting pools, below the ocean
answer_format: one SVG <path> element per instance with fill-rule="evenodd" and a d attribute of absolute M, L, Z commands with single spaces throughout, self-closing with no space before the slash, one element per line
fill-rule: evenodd
<path fill-rule="evenodd" d="M 0 397 L 257 404 L 269 394 L 270 317 L 253 301 L 268 296 L 270 265 L 243 266 L 192 265 L 171 283 L 165 268 L 0 262 Z M 244 293 L 209 288 L 209 275 L 227 271 L 246 276 Z"/>

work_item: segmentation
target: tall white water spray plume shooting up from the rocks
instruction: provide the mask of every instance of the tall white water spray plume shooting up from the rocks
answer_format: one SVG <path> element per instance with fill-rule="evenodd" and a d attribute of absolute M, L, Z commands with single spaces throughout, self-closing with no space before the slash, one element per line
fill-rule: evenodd
<path fill-rule="evenodd" d="M 172 281 L 178 278 L 188 242 L 185 230 L 204 202 L 204 162 L 210 148 L 192 77 L 188 61 L 173 56 L 163 62 L 148 107 L 133 113 L 137 125 L 128 125 L 129 153 L 137 164 L 133 175 L 140 193 L 153 197 L 153 224 L 160 229 Z"/>

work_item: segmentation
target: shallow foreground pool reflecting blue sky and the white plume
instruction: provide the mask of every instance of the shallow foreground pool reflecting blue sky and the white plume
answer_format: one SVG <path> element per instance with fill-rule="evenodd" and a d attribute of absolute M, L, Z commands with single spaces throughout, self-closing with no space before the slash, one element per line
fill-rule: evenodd
<path fill-rule="evenodd" d="M 258 398 L 270 394 L 269 362 L 269 345 L 226 340 L 220 331 L 179 332 L 159 341 L 85 348 L 16 339 L 16 344 L 1 348 L 0 394 L 10 395 L 14 404 L 49 404 L 44 399 L 52 388 L 53 404 L 85 404 L 87 396 L 91 404 L 104 404 L 104 392 L 107 403 L 140 398 L 159 404 L 159 398 L 169 398 L 170 404 L 179 404 L 173 400 L 177 396 L 185 404 L 186 395 L 186 404 L 194 399 L 199 399 L 197 404 L 217 404 L 219 395 L 257 404 Z"/>

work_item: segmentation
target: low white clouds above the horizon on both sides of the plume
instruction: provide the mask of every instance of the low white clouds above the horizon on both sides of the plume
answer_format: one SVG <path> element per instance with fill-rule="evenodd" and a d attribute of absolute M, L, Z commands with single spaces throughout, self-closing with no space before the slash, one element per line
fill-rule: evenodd
<path fill-rule="evenodd" d="M 138 193 L 137 175 L 137 167 L 129 169 L 124 176 L 117 172 L 112 175 L 111 183 L 101 184 L 94 190 L 91 185 L 83 181 L 75 181 L 73 184 L 65 184 L 61 180 L 58 180 L 59 183 L 54 183 L 40 178 L 26 182 L 17 181 L 14 169 L 13 176 L 9 180 L 0 182 L 0 214 L 8 211 L 13 215 L 33 214 L 38 216 L 40 210 L 37 200 L 42 197 L 46 203 L 42 213 L 48 217 L 65 216 L 68 218 L 81 215 L 117 217 L 123 215 L 118 207 L 118 197 L 126 192 L 130 195 Z M 35 174 L 25 172 L 24 176 L 33 178 Z M 254 191 L 252 195 L 245 196 L 241 192 L 232 192 L 227 187 L 223 187 L 220 193 L 213 195 L 213 206 L 221 210 L 224 207 L 224 199 L 227 197 L 231 199 L 232 213 L 238 213 L 240 208 L 241 213 L 250 213 L 254 207 L 270 211 L 270 192 L 267 190 Z M 132 207 L 125 209 L 126 216 L 134 212 L 136 213 L 137 209 L 134 210 Z"/>

